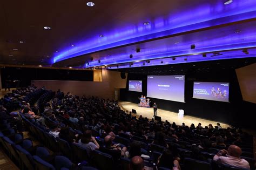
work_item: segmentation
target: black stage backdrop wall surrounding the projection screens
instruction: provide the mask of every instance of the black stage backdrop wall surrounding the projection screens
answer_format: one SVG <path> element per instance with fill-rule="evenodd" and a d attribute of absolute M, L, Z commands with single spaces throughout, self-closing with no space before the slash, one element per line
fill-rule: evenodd
<path fill-rule="evenodd" d="M 142 94 L 147 94 L 147 76 L 129 74 L 129 79 L 143 80 L 143 92 L 132 92 L 128 91 L 128 89 L 122 89 L 120 91 L 120 99 L 132 103 L 139 103 L 138 97 Z M 194 81 L 230 83 L 230 103 L 192 98 Z M 254 119 L 249 118 L 252 117 L 252 111 L 250 110 L 255 110 L 255 104 L 242 100 L 235 70 L 220 70 L 219 72 L 214 71 L 208 73 L 197 72 L 197 70 L 187 72 L 185 74 L 185 103 L 154 98 L 150 99 L 151 104 L 155 101 L 158 107 L 164 110 L 178 113 L 179 109 L 183 109 L 185 115 L 216 120 L 235 126 L 256 128 L 253 126 Z M 198 123 L 195 122 L 195 124 Z"/>

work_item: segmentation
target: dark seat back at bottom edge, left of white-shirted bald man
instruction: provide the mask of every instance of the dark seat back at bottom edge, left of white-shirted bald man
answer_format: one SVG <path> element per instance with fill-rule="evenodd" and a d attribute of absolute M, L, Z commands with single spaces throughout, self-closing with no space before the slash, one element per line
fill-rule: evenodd
<path fill-rule="evenodd" d="M 196 159 L 185 158 L 184 159 L 185 169 L 190 170 L 211 170 L 211 164 Z"/>

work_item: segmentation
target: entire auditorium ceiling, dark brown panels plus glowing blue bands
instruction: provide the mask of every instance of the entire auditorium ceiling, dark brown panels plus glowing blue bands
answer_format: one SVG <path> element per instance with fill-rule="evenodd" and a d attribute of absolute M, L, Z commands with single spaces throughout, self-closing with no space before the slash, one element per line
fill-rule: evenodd
<path fill-rule="evenodd" d="M 226 1 L 1 1 L 0 64 L 120 69 L 255 57 L 256 1 Z"/>

